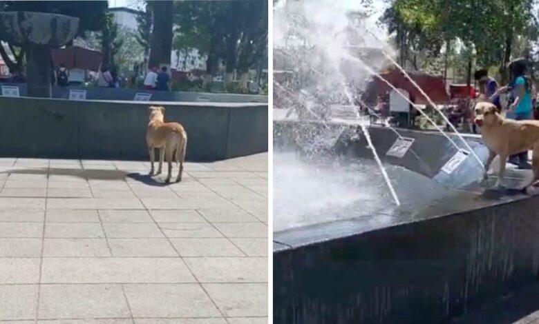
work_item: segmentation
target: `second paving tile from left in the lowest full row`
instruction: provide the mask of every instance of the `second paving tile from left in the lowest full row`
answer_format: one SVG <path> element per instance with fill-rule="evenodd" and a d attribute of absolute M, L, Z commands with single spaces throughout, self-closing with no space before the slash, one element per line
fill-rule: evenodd
<path fill-rule="evenodd" d="M 121 285 L 41 285 L 38 312 L 42 319 L 130 316 Z"/>

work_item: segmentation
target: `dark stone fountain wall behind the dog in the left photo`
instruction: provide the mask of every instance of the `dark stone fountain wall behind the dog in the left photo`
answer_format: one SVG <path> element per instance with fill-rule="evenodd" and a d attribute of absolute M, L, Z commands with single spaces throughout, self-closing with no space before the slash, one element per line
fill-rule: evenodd
<path fill-rule="evenodd" d="M 0 156 L 146 160 L 149 105 L 188 134 L 187 159 L 267 151 L 267 103 L 69 101 L 0 97 Z"/>

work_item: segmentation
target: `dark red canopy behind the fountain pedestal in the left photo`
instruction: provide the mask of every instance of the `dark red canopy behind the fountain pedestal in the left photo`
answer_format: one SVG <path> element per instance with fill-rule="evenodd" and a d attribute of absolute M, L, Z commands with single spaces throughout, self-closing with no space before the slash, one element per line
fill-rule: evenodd
<path fill-rule="evenodd" d="M 97 50 L 88 50 L 79 46 L 68 48 L 54 48 L 50 53 L 53 57 L 54 68 L 58 69 L 60 63 L 70 69 L 99 71 L 103 54 Z"/>

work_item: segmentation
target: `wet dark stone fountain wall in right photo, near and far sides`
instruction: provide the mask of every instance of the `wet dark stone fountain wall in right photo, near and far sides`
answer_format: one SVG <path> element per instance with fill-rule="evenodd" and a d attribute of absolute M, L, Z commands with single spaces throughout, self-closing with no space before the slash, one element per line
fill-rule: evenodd
<path fill-rule="evenodd" d="M 274 123 L 275 150 L 294 145 L 291 128 Z M 395 135 L 371 131 L 383 156 Z M 438 176 L 455 152 L 451 143 L 438 134 L 402 132 L 416 139 L 414 152 L 386 162 Z M 469 143 L 484 159 L 482 145 Z M 371 158 L 365 144 L 348 141 L 335 151 Z M 475 161 L 469 157 L 453 178 L 470 176 L 468 163 Z M 536 283 L 539 197 L 500 195 L 455 179 L 446 183 L 469 185 L 443 199 L 274 233 L 274 323 L 448 323 Z"/>

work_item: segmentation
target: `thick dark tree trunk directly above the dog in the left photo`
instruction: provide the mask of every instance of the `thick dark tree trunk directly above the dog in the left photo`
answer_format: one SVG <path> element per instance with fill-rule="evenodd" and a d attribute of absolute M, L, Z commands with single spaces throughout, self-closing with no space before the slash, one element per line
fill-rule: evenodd
<path fill-rule="evenodd" d="M 153 30 L 151 32 L 150 67 L 170 66 L 172 52 L 172 0 L 153 1 Z"/>

